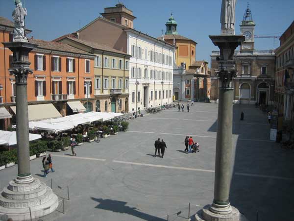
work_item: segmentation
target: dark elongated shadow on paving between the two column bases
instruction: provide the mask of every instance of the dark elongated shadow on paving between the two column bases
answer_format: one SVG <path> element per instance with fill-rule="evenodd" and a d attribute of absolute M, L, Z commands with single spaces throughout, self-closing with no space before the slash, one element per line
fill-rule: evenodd
<path fill-rule="evenodd" d="M 109 210 L 116 213 L 125 213 L 134 217 L 138 217 L 146 221 L 166 221 L 165 219 L 154 217 L 152 215 L 140 212 L 136 210 L 136 207 L 126 206 L 126 202 L 112 200 L 112 199 L 102 199 L 91 197 L 91 199 L 97 201 L 99 204 L 95 207 L 97 209 Z"/>

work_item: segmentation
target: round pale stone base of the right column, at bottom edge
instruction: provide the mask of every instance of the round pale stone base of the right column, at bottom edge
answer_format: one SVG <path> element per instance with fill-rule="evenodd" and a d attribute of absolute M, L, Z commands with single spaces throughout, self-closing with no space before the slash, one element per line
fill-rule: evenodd
<path fill-rule="evenodd" d="M 214 208 L 214 209 L 211 209 Z M 215 206 L 213 205 L 206 205 L 203 209 L 199 210 L 196 215 L 196 221 L 241 221 L 240 212 L 237 208 L 233 206 L 228 206 L 224 211 L 217 209 L 215 211 Z M 231 212 L 229 212 L 231 211 Z"/>

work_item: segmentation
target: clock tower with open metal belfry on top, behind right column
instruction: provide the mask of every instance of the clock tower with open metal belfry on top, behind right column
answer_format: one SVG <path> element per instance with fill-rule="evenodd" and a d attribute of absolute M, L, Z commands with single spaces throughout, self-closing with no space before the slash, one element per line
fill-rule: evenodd
<path fill-rule="evenodd" d="M 240 25 L 241 34 L 245 36 L 245 41 L 240 46 L 241 50 L 253 50 L 254 49 L 254 28 L 255 23 L 252 19 L 249 3 L 245 11 L 243 21 Z"/>

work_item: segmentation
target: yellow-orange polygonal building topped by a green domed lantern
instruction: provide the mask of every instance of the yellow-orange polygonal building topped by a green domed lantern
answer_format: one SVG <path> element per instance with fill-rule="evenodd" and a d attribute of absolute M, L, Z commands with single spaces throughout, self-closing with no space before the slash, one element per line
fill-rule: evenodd
<path fill-rule="evenodd" d="M 167 30 L 165 35 L 159 37 L 174 46 L 176 46 L 175 51 L 175 62 L 176 66 L 180 66 L 181 63 L 186 63 L 186 70 L 189 69 L 189 66 L 193 66 L 193 63 L 196 60 L 196 42 L 181 36 L 178 34 L 176 27 L 177 23 L 174 18 L 171 16 L 169 21 L 166 23 Z"/>

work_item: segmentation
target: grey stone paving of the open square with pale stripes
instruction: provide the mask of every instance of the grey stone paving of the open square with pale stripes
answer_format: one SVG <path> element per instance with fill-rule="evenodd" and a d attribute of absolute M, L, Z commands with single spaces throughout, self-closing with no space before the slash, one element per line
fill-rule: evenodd
<path fill-rule="evenodd" d="M 245 121 L 240 122 L 240 113 Z M 53 154 L 54 169 L 41 177 L 41 159 L 31 172 L 67 196 L 66 214 L 54 212 L 44 221 L 184 221 L 213 199 L 217 104 L 195 103 L 190 113 L 165 110 L 130 122 L 100 143 L 84 143 Z M 269 140 L 267 116 L 253 106 L 234 105 L 235 159 L 230 202 L 249 221 L 291 221 L 294 198 L 294 152 Z M 186 154 L 184 138 L 192 135 L 200 152 Z M 154 158 L 154 141 L 164 139 L 163 159 Z M 15 178 L 17 167 L 0 172 L 0 188 Z M 63 189 L 58 188 L 62 187 Z M 175 214 L 181 211 L 177 217 Z"/>

